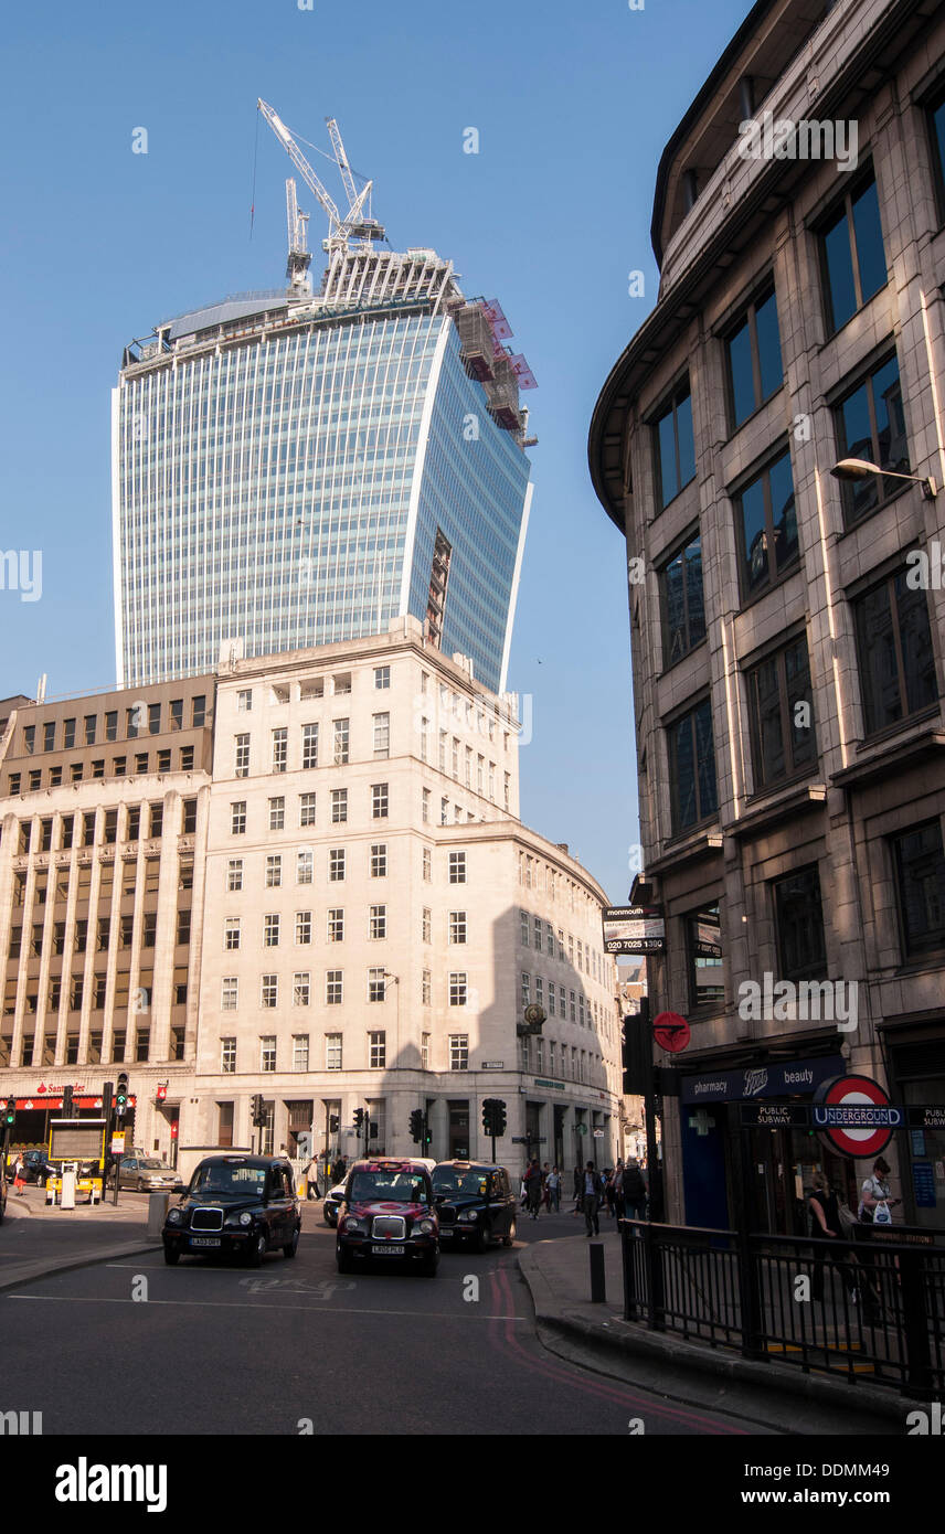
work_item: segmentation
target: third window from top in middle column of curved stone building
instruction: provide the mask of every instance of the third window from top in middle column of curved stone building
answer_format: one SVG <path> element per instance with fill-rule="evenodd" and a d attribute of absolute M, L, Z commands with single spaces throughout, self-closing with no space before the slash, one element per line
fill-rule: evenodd
<path fill-rule="evenodd" d="M 747 672 L 755 792 L 816 761 L 807 637 Z"/>

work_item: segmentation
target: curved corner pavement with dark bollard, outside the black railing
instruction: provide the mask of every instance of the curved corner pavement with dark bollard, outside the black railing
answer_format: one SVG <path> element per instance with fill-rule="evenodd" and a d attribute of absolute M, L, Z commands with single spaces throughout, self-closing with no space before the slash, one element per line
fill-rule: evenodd
<path fill-rule="evenodd" d="M 538 1216 L 537 1227 L 543 1218 Z M 551 1224 L 548 1229 L 551 1235 Z M 594 1244 L 604 1252 L 603 1302 L 591 1301 L 588 1249 Z M 591 1239 L 583 1230 L 580 1235 L 555 1230 L 552 1239 L 531 1241 L 517 1259 L 531 1292 L 538 1336 L 560 1358 L 715 1410 L 726 1410 L 736 1397 L 744 1411 L 755 1401 L 758 1420 L 782 1431 L 850 1431 L 851 1419 L 858 1433 L 890 1431 L 893 1424 L 902 1430 L 904 1402 L 893 1390 L 746 1359 L 735 1348 L 706 1347 L 624 1321 L 620 1233 L 614 1220 L 601 1218 L 600 1236 Z"/>

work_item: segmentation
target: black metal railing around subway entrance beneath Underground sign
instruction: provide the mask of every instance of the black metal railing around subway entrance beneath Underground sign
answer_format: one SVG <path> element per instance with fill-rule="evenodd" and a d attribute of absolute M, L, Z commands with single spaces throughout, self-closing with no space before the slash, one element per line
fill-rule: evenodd
<path fill-rule="evenodd" d="M 854 1384 L 945 1390 L 945 1236 L 853 1241 L 621 1220 L 624 1318 Z"/>

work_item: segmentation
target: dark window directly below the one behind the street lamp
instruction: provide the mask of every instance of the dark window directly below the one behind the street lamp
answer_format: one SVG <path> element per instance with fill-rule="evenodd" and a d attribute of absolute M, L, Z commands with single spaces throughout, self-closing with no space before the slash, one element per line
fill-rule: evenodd
<path fill-rule="evenodd" d="M 928 606 L 925 592 L 899 571 L 859 597 L 853 611 L 864 727 L 874 735 L 939 696 Z"/>

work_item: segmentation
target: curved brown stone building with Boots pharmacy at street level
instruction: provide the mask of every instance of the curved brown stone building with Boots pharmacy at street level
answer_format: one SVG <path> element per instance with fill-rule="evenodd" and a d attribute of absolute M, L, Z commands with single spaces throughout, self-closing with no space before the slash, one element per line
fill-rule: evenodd
<path fill-rule="evenodd" d="M 802 158 L 810 120 L 833 158 Z M 658 302 L 595 408 L 594 483 L 643 561 L 650 999 L 692 1025 L 675 1221 L 732 1218 L 733 1101 L 859 1072 L 945 1103 L 943 163 L 940 9 L 759 0 L 663 153 Z M 841 482 L 842 459 L 887 474 Z M 907 1221 L 940 1226 L 942 1135 L 885 1154 Z M 750 1132 L 749 1158 L 772 1229 L 824 1158 L 853 1200 L 867 1172 L 802 1129 Z"/>

